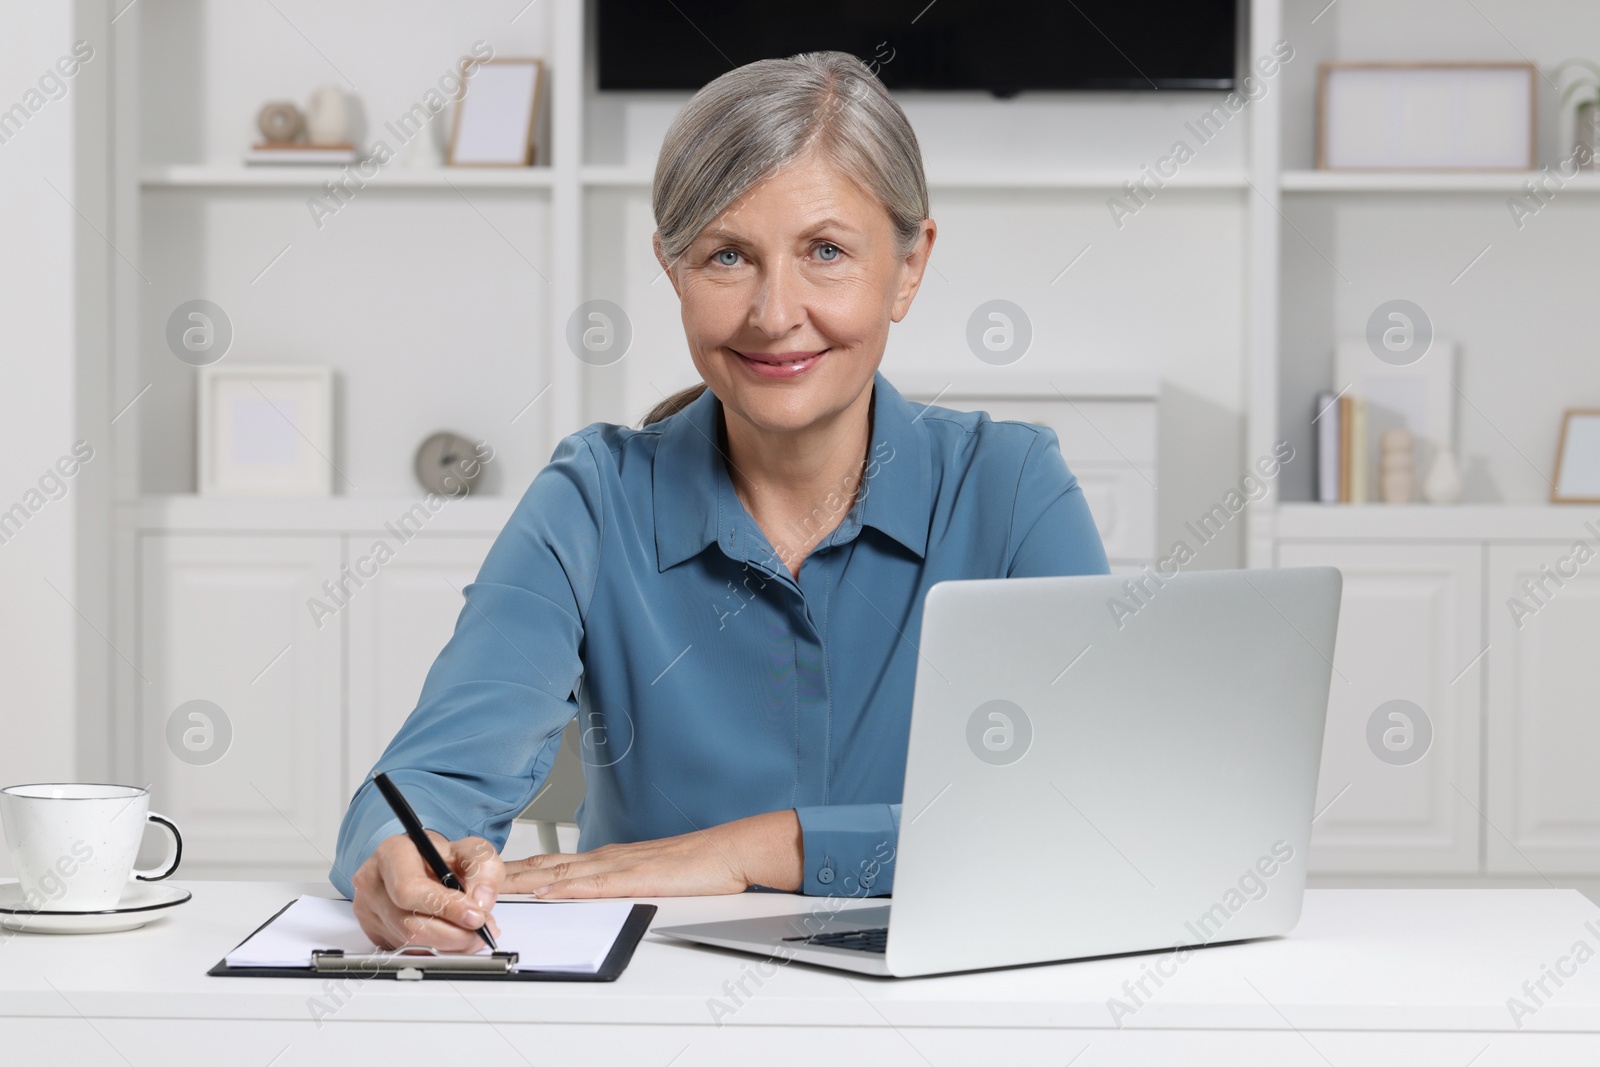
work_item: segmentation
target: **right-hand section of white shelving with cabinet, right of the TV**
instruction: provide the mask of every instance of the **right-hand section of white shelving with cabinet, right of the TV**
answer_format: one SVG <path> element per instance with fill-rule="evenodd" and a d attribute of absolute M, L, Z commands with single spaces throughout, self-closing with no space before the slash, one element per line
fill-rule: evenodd
<path fill-rule="evenodd" d="M 1539 171 L 1312 170 L 1323 61 L 1528 59 L 1541 70 L 1600 53 L 1600 10 L 1562 0 L 1478 6 L 1440 0 L 1256 3 L 1253 48 L 1296 58 L 1256 107 L 1250 264 L 1250 453 L 1286 440 L 1304 456 L 1251 515 L 1246 561 L 1344 573 L 1336 678 L 1314 825 L 1314 870 L 1378 878 L 1582 883 L 1600 864 L 1600 789 L 1571 755 L 1595 741 L 1590 657 L 1600 577 L 1526 582 L 1600 509 L 1552 507 L 1560 414 L 1600 400 L 1587 264 L 1600 238 L 1600 176 L 1528 195 Z M 1509 37 L 1506 35 L 1509 34 Z M 1512 45 L 1515 40 L 1515 45 Z M 1538 158 L 1555 144 L 1555 91 L 1539 83 Z M 1531 213 L 1514 211 L 1522 203 Z M 1582 278 L 1582 280 L 1581 280 Z M 1459 506 L 1320 506 L 1312 498 L 1314 397 L 1338 389 L 1333 350 L 1389 299 L 1410 299 L 1458 349 Z M 1296 461 L 1299 462 L 1299 461 Z M 1538 585 L 1536 585 L 1538 587 Z M 1371 741 L 1390 701 L 1421 709 L 1426 744 L 1384 760 Z M 1394 726 L 1398 720 L 1382 720 Z"/>

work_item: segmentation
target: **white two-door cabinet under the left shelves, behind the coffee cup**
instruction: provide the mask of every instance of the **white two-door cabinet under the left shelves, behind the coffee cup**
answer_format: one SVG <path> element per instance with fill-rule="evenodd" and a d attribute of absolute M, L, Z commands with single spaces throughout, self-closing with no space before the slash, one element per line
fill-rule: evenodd
<path fill-rule="evenodd" d="M 184 873 L 326 873 L 350 793 L 416 707 L 494 541 L 387 536 L 378 566 L 376 537 L 141 534 L 141 781 L 184 832 Z M 184 707 L 170 731 L 189 701 L 218 710 Z"/>

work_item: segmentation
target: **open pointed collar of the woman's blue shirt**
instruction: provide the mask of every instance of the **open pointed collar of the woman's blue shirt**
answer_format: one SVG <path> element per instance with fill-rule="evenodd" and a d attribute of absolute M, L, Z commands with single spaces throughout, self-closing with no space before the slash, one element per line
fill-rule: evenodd
<path fill-rule="evenodd" d="M 867 478 L 840 523 L 872 526 L 910 549 L 928 550 L 933 472 L 922 405 L 907 402 L 882 371 L 872 376 L 872 442 Z M 720 542 L 730 558 L 770 555 L 728 477 L 722 402 L 707 389 L 661 429 L 653 469 L 656 561 L 661 571 Z M 830 536 L 830 541 L 835 537 Z"/>

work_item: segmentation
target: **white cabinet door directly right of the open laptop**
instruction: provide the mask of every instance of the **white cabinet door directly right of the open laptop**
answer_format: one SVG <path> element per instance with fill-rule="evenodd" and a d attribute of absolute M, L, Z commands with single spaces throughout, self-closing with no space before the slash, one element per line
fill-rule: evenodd
<path fill-rule="evenodd" d="M 1280 566 L 1344 573 L 1312 870 L 1478 869 L 1482 558 L 1456 544 L 1278 545 Z"/>

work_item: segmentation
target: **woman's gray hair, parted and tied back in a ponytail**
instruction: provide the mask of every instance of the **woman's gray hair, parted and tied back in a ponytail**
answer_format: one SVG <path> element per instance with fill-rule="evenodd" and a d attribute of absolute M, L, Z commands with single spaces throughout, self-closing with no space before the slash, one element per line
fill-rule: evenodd
<path fill-rule="evenodd" d="M 910 254 L 928 218 L 928 181 L 906 112 L 861 59 L 808 51 L 734 67 L 690 98 L 667 126 L 650 189 L 667 262 L 734 200 L 811 150 L 883 205 L 896 256 Z M 669 397 L 643 426 L 701 392 L 704 386 Z"/>

